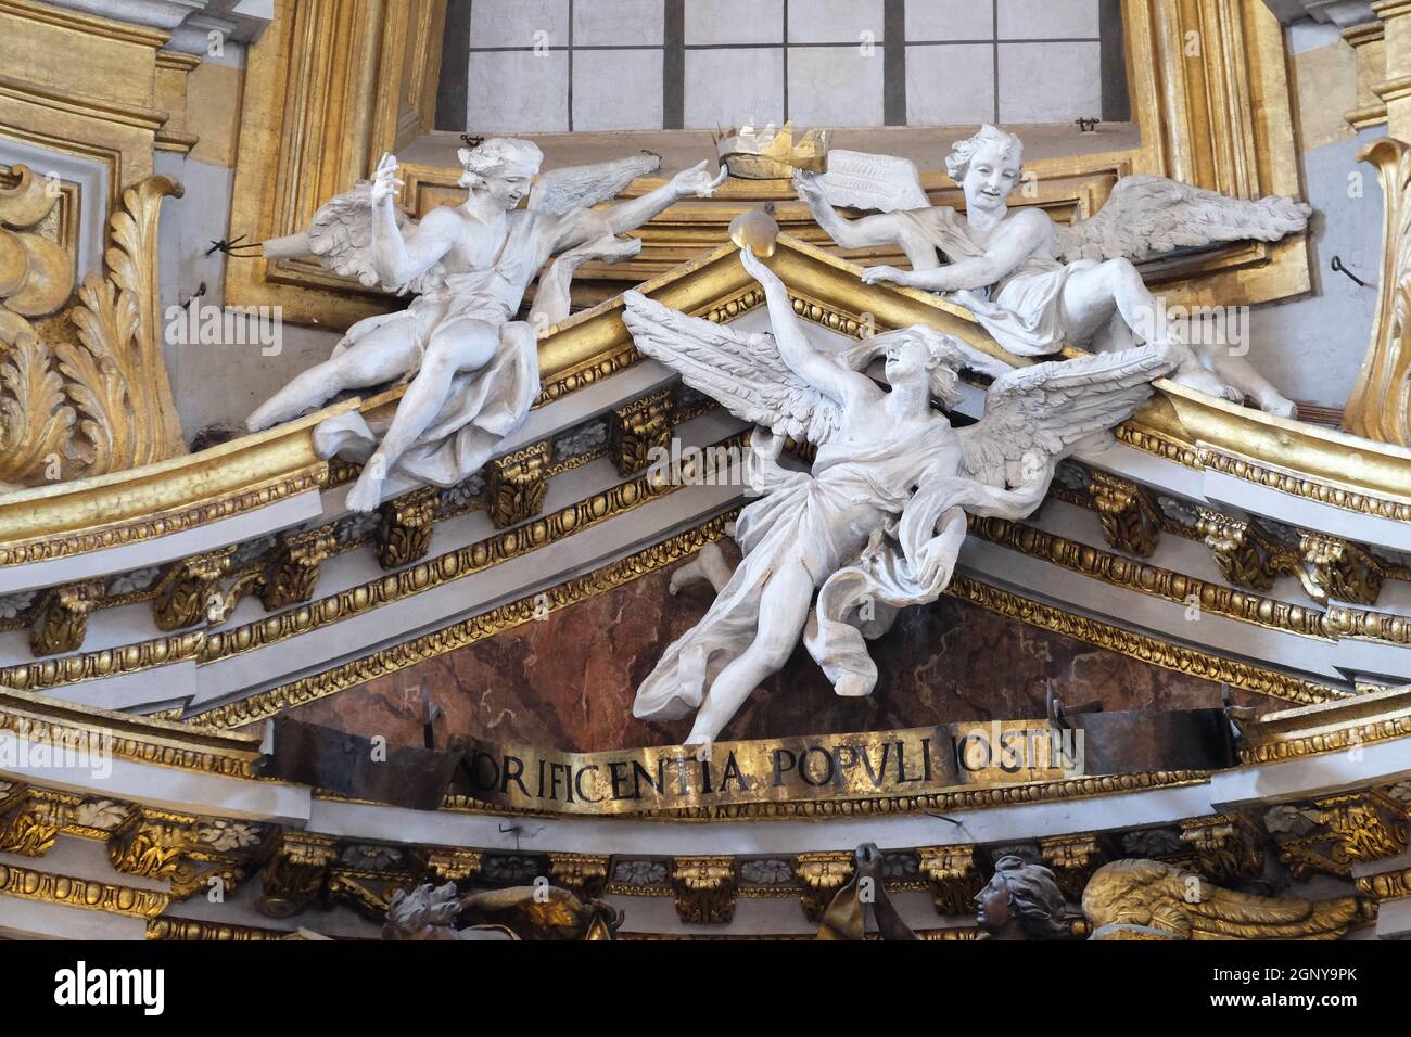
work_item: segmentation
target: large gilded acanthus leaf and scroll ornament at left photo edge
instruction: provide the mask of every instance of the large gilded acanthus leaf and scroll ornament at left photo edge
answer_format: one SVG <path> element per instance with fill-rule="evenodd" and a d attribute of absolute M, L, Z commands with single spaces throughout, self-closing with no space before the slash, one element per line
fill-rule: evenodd
<path fill-rule="evenodd" d="M 28 175 L 8 196 L 0 192 L 0 222 L 30 219 L 35 192 L 44 189 Z M 54 257 L 37 258 L 44 247 L 34 241 L 42 238 L 0 229 L 0 288 L 18 284 L 0 305 L 0 484 L 102 475 L 185 453 L 162 361 L 157 265 L 161 202 L 181 193 L 165 176 L 124 190 L 110 222 L 107 277 L 89 275 L 78 302 L 42 323 L 27 317 L 69 299 L 72 264 L 62 257 L 65 281 L 49 269 Z M 40 277 L 38 267 L 49 272 Z M 41 281 L 42 299 L 31 298 Z"/>

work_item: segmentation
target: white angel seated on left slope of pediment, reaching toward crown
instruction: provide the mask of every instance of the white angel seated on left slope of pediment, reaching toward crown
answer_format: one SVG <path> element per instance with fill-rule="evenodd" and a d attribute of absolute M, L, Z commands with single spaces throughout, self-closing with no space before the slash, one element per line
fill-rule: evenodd
<path fill-rule="evenodd" d="M 573 271 L 587 260 L 635 255 L 641 241 L 619 234 L 683 198 L 710 196 L 727 175 L 721 169 L 714 176 L 701 162 L 641 198 L 595 210 L 660 159 L 643 154 L 556 169 L 531 189 L 543 161 L 531 141 L 494 137 L 459 155 L 459 186 L 467 190 L 460 206 L 432 209 L 419 223 L 406 217 L 394 203 L 402 186 L 396 159 L 384 155 L 371 182 L 327 202 L 308 230 L 265 243 L 267 258 L 317 255 L 370 288 L 416 295 L 405 310 L 353 325 L 327 361 L 299 374 L 247 420 L 254 432 L 346 389 L 408 382 L 389 423 L 370 425 L 349 412 L 315 429 L 320 456 L 365 461 L 347 497 L 353 511 L 381 502 L 394 468 L 446 487 L 490 460 L 539 395 L 536 332 L 569 315 Z M 525 192 L 529 202 L 521 209 Z M 529 320 L 512 320 L 555 255 Z"/>

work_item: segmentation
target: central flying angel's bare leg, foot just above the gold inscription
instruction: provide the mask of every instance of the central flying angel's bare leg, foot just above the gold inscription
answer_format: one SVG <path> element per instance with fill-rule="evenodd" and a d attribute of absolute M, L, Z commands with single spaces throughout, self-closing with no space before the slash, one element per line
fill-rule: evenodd
<path fill-rule="evenodd" d="M 769 576 L 759 600 L 755 641 L 710 686 L 686 738 L 687 745 L 701 746 L 703 753 L 708 753 L 710 744 L 745 704 L 749 693 L 783 669 L 809 619 L 813 590 L 813 576 L 796 559 L 785 562 Z"/>

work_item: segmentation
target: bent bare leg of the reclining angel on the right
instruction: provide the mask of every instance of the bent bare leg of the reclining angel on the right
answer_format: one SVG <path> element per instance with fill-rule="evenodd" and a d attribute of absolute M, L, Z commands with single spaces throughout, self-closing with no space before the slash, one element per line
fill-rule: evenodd
<path fill-rule="evenodd" d="M 1099 332 L 1116 310 L 1136 337 L 1171 353 L 1178 364 L 1173 375 L 1175 381 L 1209 396 L 1243 402 L 1240 391 L 1211 374 L 1187 344 L 1164 334 L 1156 296 L 1127 260 L 1108 260 L 1074 271 L 1062 289 L 1062 308 L 1068 326 L 1074 329 L 1072 339 L 1082 341 L 1096 336 L 1095 344 L 1115 344 L 1116 336 L 1108 336 L 1103 343 Z"/>

